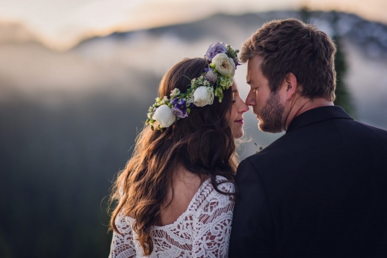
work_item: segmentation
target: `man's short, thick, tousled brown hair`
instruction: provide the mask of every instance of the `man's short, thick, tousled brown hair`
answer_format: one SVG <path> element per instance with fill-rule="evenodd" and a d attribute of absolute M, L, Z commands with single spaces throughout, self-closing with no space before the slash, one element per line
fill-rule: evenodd
<path fill-rule="evenodd" d="M 265 23 L 244 42 L 239 59 L 247 62 L 255 55 L 263 58 L 261 69 L 276 92 L 288 73 L 293 73 L 301 95 L 335 100 L 336 46 L 316 26 L 296 19 Z"/>

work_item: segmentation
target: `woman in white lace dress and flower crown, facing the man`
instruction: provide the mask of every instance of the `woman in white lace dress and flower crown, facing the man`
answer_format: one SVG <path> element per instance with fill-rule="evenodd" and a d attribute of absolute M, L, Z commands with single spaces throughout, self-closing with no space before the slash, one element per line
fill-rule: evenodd
<path fill-rule="evenodd" d="M 218 42 L 164 75 L 114 183 L 109 257 L 227 257 L 248 110 L 233 79 L 237 53 Z"/>

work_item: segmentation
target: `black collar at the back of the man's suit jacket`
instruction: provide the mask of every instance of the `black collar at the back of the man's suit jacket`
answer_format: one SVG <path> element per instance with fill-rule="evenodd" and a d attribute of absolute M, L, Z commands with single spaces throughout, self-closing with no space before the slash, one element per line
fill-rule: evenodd
<path fill-rule="evenodd" d="M 331 118 L 353 119 L 340 106 L 317 107 L 307 110 L 302 114 L 296 116 L 293 121 L 290 122 L 288 130 L 286 132 L 290 132 L 296 128 Z"/>

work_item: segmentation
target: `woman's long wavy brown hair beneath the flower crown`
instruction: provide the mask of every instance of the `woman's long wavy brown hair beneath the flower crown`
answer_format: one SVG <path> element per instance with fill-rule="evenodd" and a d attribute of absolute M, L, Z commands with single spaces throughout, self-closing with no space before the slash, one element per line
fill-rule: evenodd
<path fill-rule="evenodd" d="M 185 92 L 190 84 L 187 78 L 199 77 L 207 66 L 205 58 L 181 60 L 162 78 L 158 96 L 169 96 L 174 88 Z M 111 215 L 110 226 L 119 233 L 115 225 L 117 216 L 122 213 L 134 217 L 133 230 L 146 255 L 153 251 L 152 230 L 160 222 L 162 205 L 165 207 L 172 174 L 177 167 L 209 176 L 218 192 L 222 191 L 217 187 L 217 175 L 234 183 L 239 157 L 226 118 L 231 104 L 229 89 L 224 91 L 222 103 L 215 97 L 212 105 L 192 108 L 188 117 L 179 119 L 163 132 L 152 131 L 150 125 L 146 125 L 138 135 L 132 158 L 119 172 L 112 188 L 110 204 L 118 204 Z"/>

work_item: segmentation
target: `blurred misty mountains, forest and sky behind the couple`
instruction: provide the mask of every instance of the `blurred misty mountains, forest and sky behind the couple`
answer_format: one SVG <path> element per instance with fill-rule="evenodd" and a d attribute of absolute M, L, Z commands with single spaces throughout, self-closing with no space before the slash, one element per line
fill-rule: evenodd
<path fill-rule="evenodd" d="M 385 10 L 384 0 L 0 0 L 0 257 L 107 257 L 105 197 L 163 74 L 214 42 L 240 48 L 273 19 L 334 38 L 335 104 L 387 129 Z M 242 158 L 281 136 L 260 133 L 250 112 L 245 132 Z"/>

